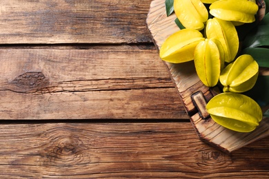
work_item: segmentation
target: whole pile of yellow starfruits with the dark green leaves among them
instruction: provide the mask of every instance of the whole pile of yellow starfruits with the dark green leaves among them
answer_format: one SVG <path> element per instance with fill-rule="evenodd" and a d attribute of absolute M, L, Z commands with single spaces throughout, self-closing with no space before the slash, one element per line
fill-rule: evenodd
<path fill-rule="evenodd" d="M 204 85 L 219 85 L 223 93 L 206 109 L 234 131 L 253 131 L 269 116 L 261 109 L 269 105 L 268 11 L 269 0 L 166 0 L 166 13 L 175 12 L 179 31 L 161 45 L 161 59 L 194 61 Z"/>

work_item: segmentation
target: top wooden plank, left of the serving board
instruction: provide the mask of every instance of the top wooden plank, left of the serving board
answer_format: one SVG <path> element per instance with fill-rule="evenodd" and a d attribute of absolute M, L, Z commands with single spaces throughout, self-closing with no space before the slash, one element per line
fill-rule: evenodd
<path fill-rule="evenodd" d="M 148 43 L 150 0 L 0 1 L 0 43 Z"/>

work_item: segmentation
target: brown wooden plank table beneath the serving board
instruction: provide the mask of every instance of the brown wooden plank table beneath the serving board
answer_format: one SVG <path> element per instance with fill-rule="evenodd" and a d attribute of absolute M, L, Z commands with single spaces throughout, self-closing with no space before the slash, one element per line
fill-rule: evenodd
<path fill-rule="evenodd" d="M 150 0 L 0 1 L 0 178 L 266 178 L 269 137 L 203 143 Z"/>

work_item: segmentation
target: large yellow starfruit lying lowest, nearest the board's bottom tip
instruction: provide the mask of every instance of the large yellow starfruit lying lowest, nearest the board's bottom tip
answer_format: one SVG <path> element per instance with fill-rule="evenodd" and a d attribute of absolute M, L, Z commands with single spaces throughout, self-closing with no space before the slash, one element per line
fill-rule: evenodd
<path fill-rule="evenodd" d="M 206 109 L 216 123 L 239 132 L 253 131 L 263 116 L 261 107 L 252 98 L 230 92 L 211 98 Z"/>

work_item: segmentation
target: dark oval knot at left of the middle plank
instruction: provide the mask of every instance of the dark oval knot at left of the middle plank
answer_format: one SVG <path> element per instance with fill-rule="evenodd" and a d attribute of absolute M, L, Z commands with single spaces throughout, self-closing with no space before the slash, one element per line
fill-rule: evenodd
<path fill-rule="evenodd" d="M 16 92 L 37 92 L 49 84 L 48 78 L 42 72 L 26 72 L 10 82 Z"/>

